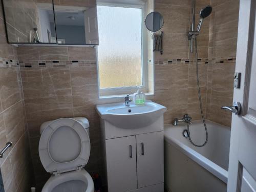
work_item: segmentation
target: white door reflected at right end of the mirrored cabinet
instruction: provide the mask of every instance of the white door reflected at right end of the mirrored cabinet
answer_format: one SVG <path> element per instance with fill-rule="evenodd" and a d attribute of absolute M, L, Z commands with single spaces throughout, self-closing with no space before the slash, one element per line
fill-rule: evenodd
<path fill-rule="evenodd" d="M 99 44 L 96 6 L 84 12 L 84 23 L 86 28 L 86 44 Z"/>

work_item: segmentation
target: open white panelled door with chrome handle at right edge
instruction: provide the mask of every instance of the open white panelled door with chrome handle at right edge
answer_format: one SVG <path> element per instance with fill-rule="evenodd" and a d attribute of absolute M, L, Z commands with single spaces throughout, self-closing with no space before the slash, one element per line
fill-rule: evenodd
<path fill-rule="evenodd" d="M 240 0 L 236 72 L 241 88 L 234 101 L 241 115 L 232 115 L 228 192 L 256 191 L 256 1 Z"/>

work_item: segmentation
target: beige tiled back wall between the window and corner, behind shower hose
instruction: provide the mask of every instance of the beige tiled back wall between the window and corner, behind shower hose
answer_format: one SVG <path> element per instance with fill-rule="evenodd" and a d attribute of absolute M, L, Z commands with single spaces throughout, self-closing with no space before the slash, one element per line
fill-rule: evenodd
<path fill-rule="evenodd" d="M 209 0 L 196 1 L 196 25 L 199 21 L 200 9 L 209 4 Z M 157 65 L 153 100 L 167 107 L 164 115 L 165 123 L 172 123 L 174 118 L 181 118 L 186 113 L 191 115 L 193 120 L 201 119 L 195 54 L 190 53 L 187 39 L 191 22 L 191 2 L 189 0 L 156 0 L 155 8 L 163 15 L 165 23 L 162 28 L 163 55 L 155 53 Z M 201 34 L 198 36 L 199 58 L 202 59 L 199 61 L 199 72 L 204 110 L 206 108 L 208 65 L 205 62 L 208 61 L 209 21 L 210 18 L 204 20 Z M 181 61 L 176 61 L 177 59 Z"/>

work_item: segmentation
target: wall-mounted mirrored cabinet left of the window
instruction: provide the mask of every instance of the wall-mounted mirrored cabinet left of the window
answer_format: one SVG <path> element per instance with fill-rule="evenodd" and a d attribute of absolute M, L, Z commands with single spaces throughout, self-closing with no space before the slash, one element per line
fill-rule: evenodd
<path fill-rule="evenodd" d="M 96 0 L 3 0 L 3 12 L 9 44 L 99 44 Z"/>

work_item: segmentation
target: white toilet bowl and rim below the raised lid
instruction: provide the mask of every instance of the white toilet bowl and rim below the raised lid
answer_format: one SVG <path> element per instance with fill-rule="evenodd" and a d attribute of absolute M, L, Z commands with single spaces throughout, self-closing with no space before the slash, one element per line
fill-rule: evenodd
<path fill-rule="evenodd" d="M 81 183 L 83 182 L 84 185 L 86 185 L 86 189 L 84 189 L 85 187 L 81 187 L 84 190 L 80 189 L 79 191 L 94 192 L 93 179 L 90 176 L 90 174 L 84 169 L 67 172 L 67 173 L 62 173 L 57 176 L 51 176 L 50 179 L 46 182 L 44 188 L 42 188 L 41 192 L 55 192 L 55 191 L 63 192 L 64 190 L 74 191 L 75 189 L 68 190 L 67 187 L 65 186 L 65 183 L 71 182 L 71 184 L 73 186 L 77 186 L 77 183 L 72 183 L 75 181 L 80 181 Z M 60 186 L 60 185 L 63 185 L 63 186 Z M 57 187 L 58 187 L 58 189 L 56 189 Z M 64 192 L 66 192 L 66 191 L 64 191 Z"/>

